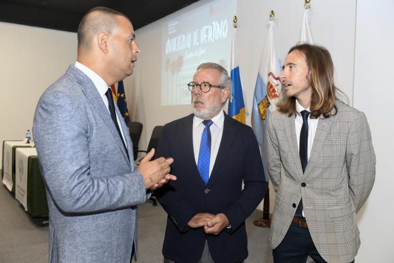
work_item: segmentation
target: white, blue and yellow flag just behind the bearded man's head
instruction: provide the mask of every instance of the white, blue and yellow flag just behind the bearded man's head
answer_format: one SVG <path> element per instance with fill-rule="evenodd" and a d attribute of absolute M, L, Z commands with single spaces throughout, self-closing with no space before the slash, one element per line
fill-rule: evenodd
<path fill-rule="evenodd" d="M 229 101 L 229 115 L 230 117 L 246 123 L 246 103 L 243 98 L 246 98 L 245 90 L 242 86 L 241 73 L 239 72 L 238 65 L 238 39 L 237 39 L 237 28 L 234 27 L 232 32 L 232 44 L 231 44 L 231 79 L 232 79 L 232 93 Z"/>

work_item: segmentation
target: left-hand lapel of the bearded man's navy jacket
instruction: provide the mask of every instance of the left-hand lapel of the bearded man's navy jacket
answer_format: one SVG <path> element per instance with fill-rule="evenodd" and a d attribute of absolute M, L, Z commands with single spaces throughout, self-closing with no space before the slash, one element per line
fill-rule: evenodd
<path fill-rule="evenodd" d="M 190 165 L 190 169 L 193 175 L 197 177 L 197 180 L 201 185 L 205 185 L 198 172 L 196 159 L 194 157 L 193 150 L 193 117 L 194 114 L 190 114 L 182 122 L 178 124 L 178 134 L 180 135 L 181 145 L 185 152 L 186 162 Z"/>

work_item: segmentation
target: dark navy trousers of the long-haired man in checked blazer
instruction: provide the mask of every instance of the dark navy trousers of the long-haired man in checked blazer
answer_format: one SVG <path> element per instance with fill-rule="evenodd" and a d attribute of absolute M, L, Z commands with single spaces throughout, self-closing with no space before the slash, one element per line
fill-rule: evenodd
<path fill-rule="evenodd" d="M 290 225 L 282 242 L 272 251 L 272 255 L 274 263 L 305 263 L 308 256 L 315 263 L 327 263 L 317 252 L 308 228 L 295 223 Z"/>

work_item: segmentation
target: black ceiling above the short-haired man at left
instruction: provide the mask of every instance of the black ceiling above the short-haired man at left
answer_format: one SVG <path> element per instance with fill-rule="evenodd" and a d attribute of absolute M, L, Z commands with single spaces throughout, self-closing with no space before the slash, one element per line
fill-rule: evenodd
<path fill-rule="evenodd" d="M 197 0 L 0 0 L 0 21 L 76 32 L 82 16 L 105 6 L 127 15 L 137 30 Z"/>

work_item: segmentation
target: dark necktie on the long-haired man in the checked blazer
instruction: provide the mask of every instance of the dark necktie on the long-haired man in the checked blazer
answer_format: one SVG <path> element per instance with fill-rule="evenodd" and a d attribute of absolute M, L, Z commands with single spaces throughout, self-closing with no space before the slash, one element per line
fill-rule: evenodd
<path fill-rule="evenodd" d="M 302 172 L 305 172 L 306 165 L 308 164 L 308 116 L 310 112 L 302 111 L 302 127 L 299 134 L 299 159 L 301 160 Z M 295 217 L 303 218 L 302 216 L 302 199 L 299 201 Z"/>

